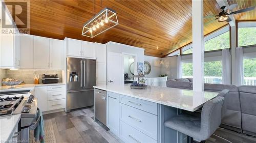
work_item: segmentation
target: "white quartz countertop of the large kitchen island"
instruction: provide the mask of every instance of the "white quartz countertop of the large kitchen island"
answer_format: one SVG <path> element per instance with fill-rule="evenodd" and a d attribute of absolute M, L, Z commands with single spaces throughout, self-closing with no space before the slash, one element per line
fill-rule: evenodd
<path fill-rule="evenodd" d="M 136 90 L 131 89 L 130 84 L 97 85 L 94 88 L 188 111 L 199 109 L 205 102 L 218 95 L 216 92 L 195 92 L 193 90 L 153 86 L 148 86 L 146 90 Z"/>

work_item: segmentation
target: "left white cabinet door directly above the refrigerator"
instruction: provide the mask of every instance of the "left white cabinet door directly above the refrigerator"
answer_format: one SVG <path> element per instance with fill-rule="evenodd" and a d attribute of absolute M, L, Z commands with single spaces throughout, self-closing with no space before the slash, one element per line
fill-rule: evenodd
<path fill-rule="evenodd" d="M 81 56 L 81 40 L 67 38 L 67 55 Z"/>

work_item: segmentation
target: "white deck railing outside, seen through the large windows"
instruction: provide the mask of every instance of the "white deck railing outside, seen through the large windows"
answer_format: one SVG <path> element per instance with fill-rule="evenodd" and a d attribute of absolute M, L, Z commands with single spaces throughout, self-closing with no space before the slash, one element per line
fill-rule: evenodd
<path fill-rule="evenodd" d="M 192 78 L 192 76 L 183 76 L 183 78 Z M 205 83 L 222 83 L 220 76 L 205 76 Z M 244 85 L 256 85 L 256 77 L 244 77 Z"/>

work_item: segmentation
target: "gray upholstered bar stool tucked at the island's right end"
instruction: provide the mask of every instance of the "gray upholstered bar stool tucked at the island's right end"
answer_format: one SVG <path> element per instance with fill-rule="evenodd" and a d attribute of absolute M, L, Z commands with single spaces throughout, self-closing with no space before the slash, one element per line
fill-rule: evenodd
<path fill-rule="evenodd" d="M 181 114 L 164 123 L 165 127 L 177 130 L 187 135 L 187 143 L 193 138 L 205 142 L 221 124 L 222 105 L 228 90 L 222 91 L 212 100 L 203 105 L 201 119 L 195 116 Z"/>

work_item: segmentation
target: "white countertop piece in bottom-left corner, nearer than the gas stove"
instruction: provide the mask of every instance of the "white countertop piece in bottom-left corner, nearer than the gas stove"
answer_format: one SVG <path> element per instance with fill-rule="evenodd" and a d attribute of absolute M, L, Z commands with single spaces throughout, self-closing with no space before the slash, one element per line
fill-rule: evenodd
<path fill-rule="evenodd" d="M 0 117 L 0 142 L 9 142 L 20 120 L 20 114 Z"/>

